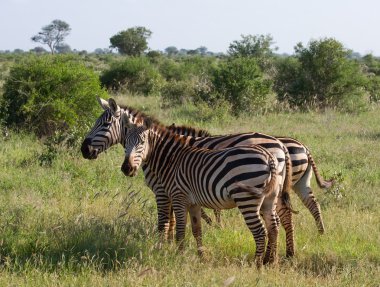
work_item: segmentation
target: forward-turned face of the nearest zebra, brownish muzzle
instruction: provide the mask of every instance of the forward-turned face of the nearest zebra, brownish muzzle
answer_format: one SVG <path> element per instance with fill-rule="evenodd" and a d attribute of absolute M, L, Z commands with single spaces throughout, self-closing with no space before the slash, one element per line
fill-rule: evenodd
<path fill-rule="evenodd" d="M 125 132 L 125 158 L 121 171 L 126 176 L 135 176 L 143 161 L 146 161 L 149 151 L 149 131 L 151 123 L 142 120 L 133 124 L 127 115 L 123 115 Z"/>

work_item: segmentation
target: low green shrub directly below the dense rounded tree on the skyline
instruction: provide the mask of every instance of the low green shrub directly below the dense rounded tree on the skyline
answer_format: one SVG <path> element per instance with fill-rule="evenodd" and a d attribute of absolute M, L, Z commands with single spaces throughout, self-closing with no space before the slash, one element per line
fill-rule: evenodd
<path fill-rule="evenodd" d="M 126 89 L 133 93 L 156 95 L 164 80 L 146 57 L 128 57 L 103 72 L 100 81 L 107 89 Z"/>

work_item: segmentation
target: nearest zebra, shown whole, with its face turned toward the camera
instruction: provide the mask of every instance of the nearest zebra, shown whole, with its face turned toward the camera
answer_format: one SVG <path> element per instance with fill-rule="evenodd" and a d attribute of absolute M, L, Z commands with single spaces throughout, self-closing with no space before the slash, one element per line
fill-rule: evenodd
<path fill-rule="evenodd" d="M 193 137 L 175 134 L 150 118 L 138 119 L 139 124 L 131 123 L 128 115 L 123 118 L 127 131 L 121 170 L 126 176 L 135 176 L 144 163 L 160 178 L 172 200 L 180 250 L 188 212 L 202 255 L 201 206 L 218 210 L 238 207 L 256 242 L 257 267 L 276 262 L 280 177 L 279 162 L 272 153 L 258 145 L 198 148 Z M 263 258 L 266 235 L 268 247 Z"/>

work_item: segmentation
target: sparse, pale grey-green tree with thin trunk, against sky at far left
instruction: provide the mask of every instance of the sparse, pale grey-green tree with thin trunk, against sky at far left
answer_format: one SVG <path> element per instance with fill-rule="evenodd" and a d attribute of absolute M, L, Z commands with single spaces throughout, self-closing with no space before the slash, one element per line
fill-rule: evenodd
<path fill-rule="evenodd" d="M 63 44 L 69 35 L 71 28 L 62 20 L 53 20 L 49 25 L 42 27 L 42 31 L 31 38 L 32 41 L 48 45 L 52 54 L 56 52 L 57 46 Z"/>

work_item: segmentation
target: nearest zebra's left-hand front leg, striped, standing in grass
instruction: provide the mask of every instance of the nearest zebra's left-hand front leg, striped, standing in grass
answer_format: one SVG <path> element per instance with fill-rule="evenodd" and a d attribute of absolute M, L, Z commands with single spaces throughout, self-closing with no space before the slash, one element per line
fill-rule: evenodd
<path fill-rule="evenodd" d="M 173 209 L 176 217 L 176 242 L 178 244 L 178 250 L 184 249 L 185 231 L 188 204 L 185 196 L 177 195 L 173 198 Z"/>

